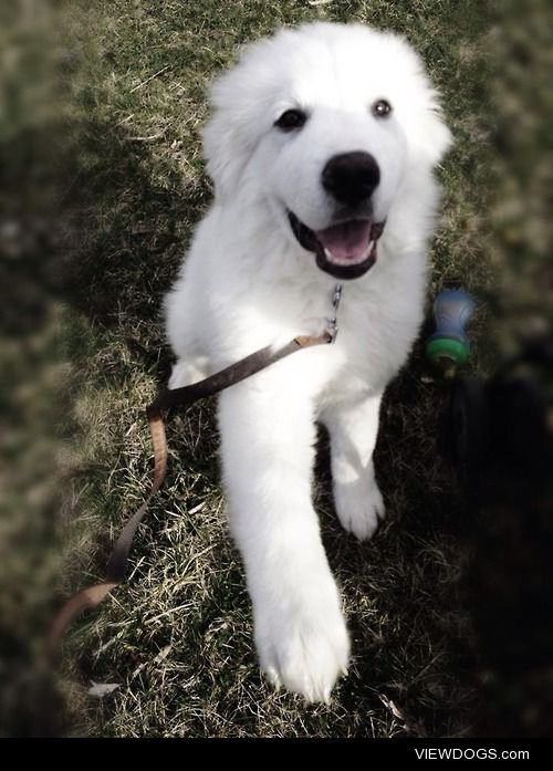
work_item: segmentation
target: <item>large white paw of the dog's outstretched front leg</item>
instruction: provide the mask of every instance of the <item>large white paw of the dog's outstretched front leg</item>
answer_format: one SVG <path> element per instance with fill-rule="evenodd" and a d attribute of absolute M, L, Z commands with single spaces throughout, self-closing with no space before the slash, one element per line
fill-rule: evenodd
<path fill-rule="evenodd" d="M 261 669 L 276 688 L 307 701 L 328 704 L 334 684 L 347 674 L 349 637 L 333 588 L 328 598 L 302 593 L 255 617 Z"/>

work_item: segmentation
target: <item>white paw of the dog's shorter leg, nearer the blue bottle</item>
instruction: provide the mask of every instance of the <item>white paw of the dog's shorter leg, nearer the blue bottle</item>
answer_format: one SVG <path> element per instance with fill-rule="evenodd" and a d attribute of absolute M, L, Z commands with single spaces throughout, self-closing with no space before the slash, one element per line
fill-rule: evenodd
<path fill-rule="evenodd" d="M 385 515 L 384 501 L 373 476 L 334 483 L 334 503 L 344 530 L 367 541 Z"/>

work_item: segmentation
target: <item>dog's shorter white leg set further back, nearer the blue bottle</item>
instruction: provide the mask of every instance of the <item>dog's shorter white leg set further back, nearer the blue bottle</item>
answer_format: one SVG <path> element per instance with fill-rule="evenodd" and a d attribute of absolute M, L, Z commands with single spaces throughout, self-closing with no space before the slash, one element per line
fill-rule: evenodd
<path fill-rule="evenodd" d="M 361 541 L 373 535 L 385 513 L 373 465 L 380 400 L 377 396 L 334 407 L 321 418 L 331 435 L 336 513 Z"/>

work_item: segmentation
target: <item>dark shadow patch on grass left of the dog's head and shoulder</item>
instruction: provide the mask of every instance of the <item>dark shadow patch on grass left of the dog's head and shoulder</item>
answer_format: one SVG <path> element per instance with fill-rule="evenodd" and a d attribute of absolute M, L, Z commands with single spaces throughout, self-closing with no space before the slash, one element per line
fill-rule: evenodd
<path fill-rule="evenodd" d="M 64 296 L 93 324 L 160 345 L 163 294 L 206 207 L 207 183 L 186 187 L 178 168 L 154 160 L 148 143 L 121 127 L 90 122 L 70 134 Z"/>

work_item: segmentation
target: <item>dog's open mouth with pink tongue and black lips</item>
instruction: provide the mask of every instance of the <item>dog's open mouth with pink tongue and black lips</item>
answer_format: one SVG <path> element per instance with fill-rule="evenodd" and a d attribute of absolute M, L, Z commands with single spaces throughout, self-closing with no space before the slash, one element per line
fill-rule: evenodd
<path fill-rule="evenodd" d="M 311 230 L 293 211 L 288 213 L 295 238 L 316 254 L 321 270 L 336 279 L 358 279 L 376 262 L 376 242 L 385 222 L 349 219 L 324 230 Z"/>

